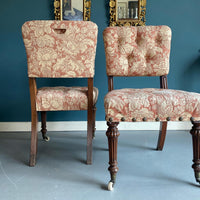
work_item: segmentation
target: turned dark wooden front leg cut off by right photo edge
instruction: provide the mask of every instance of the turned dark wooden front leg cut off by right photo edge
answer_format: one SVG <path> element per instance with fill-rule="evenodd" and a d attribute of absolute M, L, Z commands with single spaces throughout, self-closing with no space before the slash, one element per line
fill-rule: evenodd
<path fill-rule="evenodd" d="M 200 183 L 200 121 L 192 121 L 193 165 L 196 181 Z"/>

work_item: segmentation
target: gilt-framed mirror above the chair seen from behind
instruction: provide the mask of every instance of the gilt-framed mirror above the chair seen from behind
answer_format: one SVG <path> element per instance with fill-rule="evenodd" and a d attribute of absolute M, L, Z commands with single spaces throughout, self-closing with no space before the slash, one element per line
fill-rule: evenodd
<path fill-rule="evenodd" d="M 89 21 L 91 0 L 54 0 L 56 20 Z"/>

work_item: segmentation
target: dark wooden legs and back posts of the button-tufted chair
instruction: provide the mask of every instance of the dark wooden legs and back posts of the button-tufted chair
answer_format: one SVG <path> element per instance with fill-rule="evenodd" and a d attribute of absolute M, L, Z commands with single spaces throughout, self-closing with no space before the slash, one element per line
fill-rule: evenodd
<path fill-rule="evenodd" d="M 167 76 L 160 76 L 160 88 L 168 89 Z M 108 76 L 108 91 L 114 90 L 113 76 Z M 170 119 L 169 119 L 170 120 Z M 191 119 L 193 124 L 190 131 L 193 140 L 193 165 L 195 179 L 200 183 L 200 121 L 194 121 Z M 108 129 L 106 132 L 108 138 L 109 147 L 109 168 L 111 180 L 108 184 L 108 190 L 112 190 L 113 185 L 116 182 L 116 175 L 118 172 L 118 162 L 117 162 L 117 144 L 118 137 L 120 135 L 118 131 L 119 122 L 108 121 Z M 167 131 L 167 121 L 160 122 L 159 138 L 157 143 L 157 150 L 162 150 L 165 142 Z"/>

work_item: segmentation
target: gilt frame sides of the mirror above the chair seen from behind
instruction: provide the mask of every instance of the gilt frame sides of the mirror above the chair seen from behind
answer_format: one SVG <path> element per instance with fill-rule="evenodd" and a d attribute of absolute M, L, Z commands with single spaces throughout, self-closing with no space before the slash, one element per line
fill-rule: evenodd
<path fill-rule="evenodd" d="M 55 20 L 63 20 L 62 1 L 63 0 L 54 0 Z M 90 16 L 91 16 L 91 0 L 83 0 L 83 20 L 90 21 Z"/>

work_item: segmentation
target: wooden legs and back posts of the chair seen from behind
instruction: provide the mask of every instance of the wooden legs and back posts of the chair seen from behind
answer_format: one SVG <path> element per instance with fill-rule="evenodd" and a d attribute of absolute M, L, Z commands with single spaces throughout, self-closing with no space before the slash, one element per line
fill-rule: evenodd
<path fill-rule="evenodd" d="M 37 84 L 36 78 L 29 78 L 31 98 L 31 150 L 30 166 L 35 166 L 38 141 L 38 111 L 36 110 Z M 87 109 L 87 164 L 92 164 L 92 140 L 95 134 L 96 106 L 93 104 L 93 78 L 88 78 L 88 109 Z M 41 127 L 43 139 L 48 140 L 46 135 L 46 111 L 41 111 Z"/>

